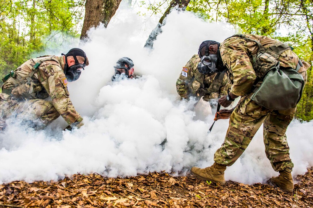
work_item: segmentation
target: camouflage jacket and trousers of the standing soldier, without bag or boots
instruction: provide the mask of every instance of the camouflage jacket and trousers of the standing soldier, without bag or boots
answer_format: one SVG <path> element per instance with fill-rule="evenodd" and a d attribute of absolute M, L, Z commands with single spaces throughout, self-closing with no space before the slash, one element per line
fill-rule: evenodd
<path fill-rule="evenodd" d="M 259 41 L 268 48 L 277 43 L 266 36 L 246 34 L 246 37 Z M 269 110 L 259 106 L 250 99 L 252 87 L 258 72 L 252 67 L 251 55 L 258 52 L 256 42 L 244 38 L 230 37 L 220 46 L 223 63 L 228 68 L 228 77 L 232 87 L 230 92 L 242 96 L 241 103 L 234 109 L 229 119 L 225 141 L 215 152 L 214 161 L 231 166 L 244 152 L 254 134 L 263 123 L 265 153 L 275 171 L 292 170 L 293 163 L 289 157 L 289 146 L 285 132 L 295 115 L 296 106 L 285 111 Z M 290 49 L 280 54 L 277 59 L 281 67 L 296 68 L 299 58 Z M 306 81 L 306 69 L 309 64 L 298 71 Z M 259 85 L 258 82 L 256 85 Z"/>

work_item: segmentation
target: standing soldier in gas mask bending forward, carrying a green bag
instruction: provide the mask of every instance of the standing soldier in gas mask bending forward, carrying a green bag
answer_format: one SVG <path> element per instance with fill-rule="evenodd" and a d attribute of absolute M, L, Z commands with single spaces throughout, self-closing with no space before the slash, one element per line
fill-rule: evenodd
<path fill-rule="evenodd" d="M 263 123 L 266 156 L 280 173 L 269 182 L 293 192 L 294 165 L 285 132 L 295 115 L 310 65 L 300 61 L 287 44 L 251 34 L 234 35 L 220 46 L 215 41 L 201 44 L 199 54 L 212 71 L 226 69 L 232 82 L 229 94 L 218 100 L 221 106 L 227 107 L 236 97 L 242 98 L 230 116 L 228 111 L 220 112 L 222 119 L 230 120 L 225 141 L 214 154 L 214 164 L 204 169 L 192 167 L 192 174 L 202 180 L 225 183 L 226 167 L 241 156 Z M 290 105 L 284 106 L 288 102 Z"/>

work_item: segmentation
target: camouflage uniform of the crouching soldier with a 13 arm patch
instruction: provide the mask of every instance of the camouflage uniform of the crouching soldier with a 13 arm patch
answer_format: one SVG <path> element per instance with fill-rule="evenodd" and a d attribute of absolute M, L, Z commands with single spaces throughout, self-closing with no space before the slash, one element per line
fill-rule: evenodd
<path fill-rule="evenodd" d="M 220 78 L 219 82 L 221 83 L 219 84 L 214 81 L 218 74 L 215 73 L 208 76 L 198 71 L 199 62 L 200 58 L 198 54 L 195 54 L 187 62 L 185 67 L 183 67 L 183 71 L 176 82 L 176 89 L 180 97 L 187 99 L 189 96 L 197 96 L 198 98 L 204 96 L 203 100 L 209 101 L 210 99 L 227 95 L 231 87 L 227 76 L 222 75 L 223 77 Z"/>

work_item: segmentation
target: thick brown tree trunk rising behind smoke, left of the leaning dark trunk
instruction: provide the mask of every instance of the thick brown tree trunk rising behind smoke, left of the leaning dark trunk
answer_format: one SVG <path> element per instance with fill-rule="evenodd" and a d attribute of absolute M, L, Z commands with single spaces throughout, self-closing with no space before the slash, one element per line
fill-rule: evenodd
<path fill-rule="evenodd" d="M 87 31 L 100 22 L 107 27 L 122 0 L 86 0 L 85 19 L 81 29 L 80 40 L 87 37 Z"/>

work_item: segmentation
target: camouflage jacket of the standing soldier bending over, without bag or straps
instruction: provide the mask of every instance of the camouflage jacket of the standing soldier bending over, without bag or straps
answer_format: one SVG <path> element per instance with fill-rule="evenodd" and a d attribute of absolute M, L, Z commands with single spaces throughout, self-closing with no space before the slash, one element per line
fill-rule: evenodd
<path fill-rule="evenodd" d="M 278 41 L 259 35 L 245 34 L 246 37 L 256 40 L 265 48 L 273 46 Z M 252 55 L 259 50 L 258 44 L 240 37 L 227 38 L 220 46 L 223 64 L 228 68 L 227 74 L 232 83 L 230 92 L 237 96 L 247 95 L 256 81 L 256 73 L 252 66 Z M 291 50 L 287 49 L 277 59 L 281 67 L 296 68 L 299 58 Z M 306 70 L 305 67 L 298 72 Z"/>

